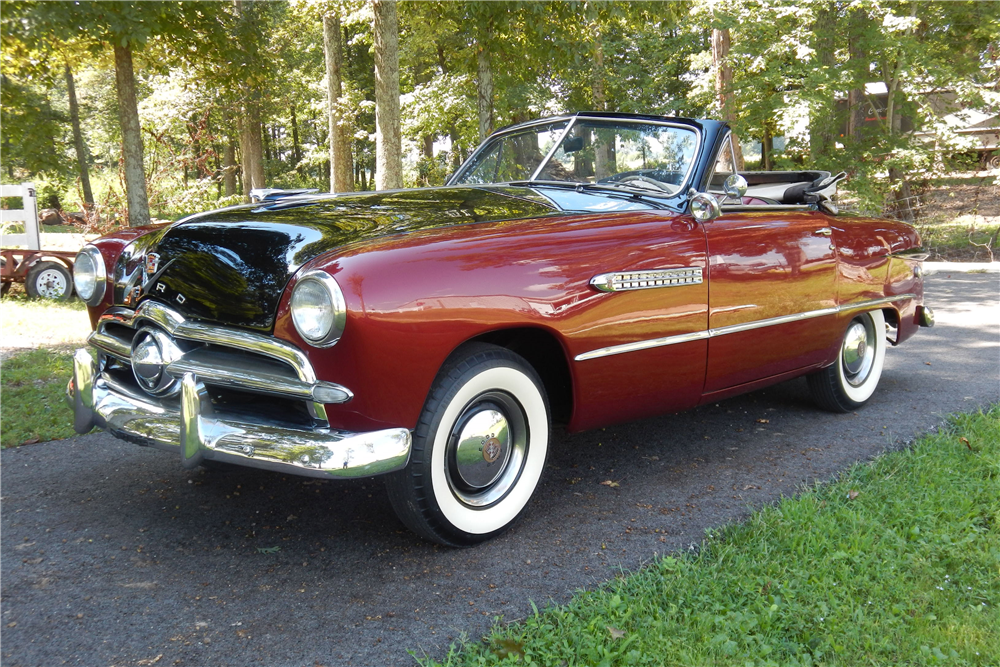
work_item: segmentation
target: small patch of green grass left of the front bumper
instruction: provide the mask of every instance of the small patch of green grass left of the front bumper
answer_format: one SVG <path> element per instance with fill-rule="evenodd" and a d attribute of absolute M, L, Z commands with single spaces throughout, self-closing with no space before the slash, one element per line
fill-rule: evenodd
<path fill-rule="evenodd" d="M 69 352 L 32 350 L 0 362 L 0 446 L 75 435 L 65 401 L 72 374 Z"/>

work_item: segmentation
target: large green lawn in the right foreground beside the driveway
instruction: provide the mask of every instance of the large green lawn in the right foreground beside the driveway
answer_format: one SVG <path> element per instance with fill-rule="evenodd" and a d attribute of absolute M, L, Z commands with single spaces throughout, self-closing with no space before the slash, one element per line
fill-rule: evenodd
<path fill-rule="evenodd" d="M 444 665 L 998 665 L 1000 406 Z"/>

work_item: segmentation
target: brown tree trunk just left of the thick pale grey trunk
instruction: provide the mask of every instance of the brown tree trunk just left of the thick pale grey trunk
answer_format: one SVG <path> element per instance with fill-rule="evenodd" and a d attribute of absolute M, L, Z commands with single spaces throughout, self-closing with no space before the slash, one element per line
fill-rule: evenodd
<path fill-rule="evenodd" d="M 336 14 L 324 16 L 323 53 L 326 56 L 326 102 L 330 125 L 330 192 L 354 192 L 351 132 L 340 111 L 340 97 L 343 94 L 341 69 L 344 64 L 340 33 L 340 17 Z M 396 81 L 398 87 L 398 73 Z M 396 106 L 398 109 L 398 101 Z"/>

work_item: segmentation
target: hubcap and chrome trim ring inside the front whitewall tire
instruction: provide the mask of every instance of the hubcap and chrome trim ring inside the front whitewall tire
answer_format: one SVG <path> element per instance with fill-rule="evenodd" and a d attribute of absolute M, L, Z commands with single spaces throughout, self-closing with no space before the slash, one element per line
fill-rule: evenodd
<path fill-rule="evenodd" d="M 445 455 L 452 493 L 470 507 L 503 498 L 521 474 L 528 448 L 524 410 L 509 394 L 487 392 L 456 420 Z"/>

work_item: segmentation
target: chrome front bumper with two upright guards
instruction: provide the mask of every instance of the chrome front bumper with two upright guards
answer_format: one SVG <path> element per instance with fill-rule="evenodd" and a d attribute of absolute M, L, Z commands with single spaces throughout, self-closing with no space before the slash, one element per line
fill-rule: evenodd
<path fill-rule="evenodd" d="M 73 357 L 66 395 L 77 433 L 97 426 L 129 442 L 180 452 L 187 468 L 209 460 L 307 477 L 368 477 L 403 468 L 410 455 L 405 428 L 350 433 L 219 418 L 193 373 L 181 380 L 180 409 L 166 408 L 110 386 L 86 349 Z"/>

